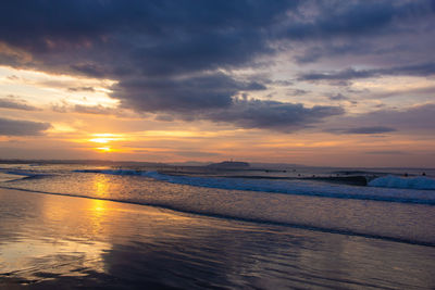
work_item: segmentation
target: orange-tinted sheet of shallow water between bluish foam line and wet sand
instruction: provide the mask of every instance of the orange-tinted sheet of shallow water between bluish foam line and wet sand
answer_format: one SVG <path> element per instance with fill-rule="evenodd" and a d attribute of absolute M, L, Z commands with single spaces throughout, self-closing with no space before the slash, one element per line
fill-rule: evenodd
<path fill-rule="evenodd" d="M 435 206 L 430 204 L 225 190 L 94 173 L 27 178 L 4 185 L 435 245 Z"/>

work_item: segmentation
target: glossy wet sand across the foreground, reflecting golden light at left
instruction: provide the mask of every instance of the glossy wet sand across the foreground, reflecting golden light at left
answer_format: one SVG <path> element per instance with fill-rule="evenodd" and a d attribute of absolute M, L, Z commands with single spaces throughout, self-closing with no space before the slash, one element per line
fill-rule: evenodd
<path fill-rule="evenodd" d="M 433 289 L 435 248 L 0 189 L 0 289 Z"/>

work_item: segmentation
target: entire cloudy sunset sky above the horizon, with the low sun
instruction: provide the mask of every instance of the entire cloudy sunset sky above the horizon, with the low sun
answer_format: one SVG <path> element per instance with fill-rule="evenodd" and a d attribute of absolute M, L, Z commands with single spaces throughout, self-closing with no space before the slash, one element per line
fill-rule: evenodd
<path fill-rule="evenodd" d="M 5 0 L 0 159 L 435 167 L 435 1 Z"/>

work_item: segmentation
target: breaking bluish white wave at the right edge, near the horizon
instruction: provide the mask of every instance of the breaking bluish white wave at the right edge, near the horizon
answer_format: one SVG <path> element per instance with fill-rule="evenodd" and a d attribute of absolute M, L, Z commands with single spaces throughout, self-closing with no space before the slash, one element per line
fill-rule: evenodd
<path fill-rule="evenodd" d="M 435 190 L 435 179 L 422 176 L 398 177 L 388 175 L 373 179 L 368 185 L 371 187 Z"/>

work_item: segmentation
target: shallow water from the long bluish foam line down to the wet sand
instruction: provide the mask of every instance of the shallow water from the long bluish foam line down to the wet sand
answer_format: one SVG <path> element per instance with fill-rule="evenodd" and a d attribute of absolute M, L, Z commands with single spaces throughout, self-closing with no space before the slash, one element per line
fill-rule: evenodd
<path fill-rule="evenodd" d="M 29 177 L 18 176 L 0 187 L 435 245 L 434 190 L 169 176 L 152 171 L 42 169 L 26 168 L 21 174 Z M 268 188 L 275 190 L 261 191 Z"/>

